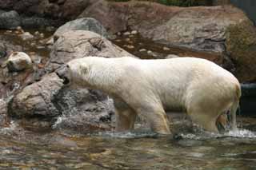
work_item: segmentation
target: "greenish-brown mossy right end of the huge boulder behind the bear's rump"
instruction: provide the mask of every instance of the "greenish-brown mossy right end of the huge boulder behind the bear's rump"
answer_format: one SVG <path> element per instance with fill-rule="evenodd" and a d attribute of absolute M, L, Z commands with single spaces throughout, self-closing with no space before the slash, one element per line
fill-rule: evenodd
<path fill-rule="evenodd" d="M 244 21 L 226 30 L 226 52 L 234 61 L 239 81 L 256 81 L 256 28 Z"/>

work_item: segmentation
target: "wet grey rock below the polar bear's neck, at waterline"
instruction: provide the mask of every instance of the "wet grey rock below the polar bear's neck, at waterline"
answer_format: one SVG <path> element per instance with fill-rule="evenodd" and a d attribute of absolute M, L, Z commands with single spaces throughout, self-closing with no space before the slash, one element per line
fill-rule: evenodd
<path fill-rule="evenodd" d="M 62 113 L 54 128 L 76 132 L 95 132 L 111 129 L 113 101 L 105 94 L 88 89 L 63 89 L 54 100 Z"/>

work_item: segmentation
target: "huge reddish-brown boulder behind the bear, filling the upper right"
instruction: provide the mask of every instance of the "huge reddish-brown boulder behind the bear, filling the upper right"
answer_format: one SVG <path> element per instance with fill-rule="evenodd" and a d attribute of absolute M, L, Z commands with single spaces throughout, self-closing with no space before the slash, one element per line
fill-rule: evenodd
<path fill-rule="evenodd" d="M 184 8 L 153 2 L 98 1 L 80 17 L 97 19 L 113 34 L 138 30 L 155 42 L 214 54 L 216 58 L 210 60 L 234 71 L 239 81 L 256 81 L 256 30 L 246 14 L 234 6 Z"/>

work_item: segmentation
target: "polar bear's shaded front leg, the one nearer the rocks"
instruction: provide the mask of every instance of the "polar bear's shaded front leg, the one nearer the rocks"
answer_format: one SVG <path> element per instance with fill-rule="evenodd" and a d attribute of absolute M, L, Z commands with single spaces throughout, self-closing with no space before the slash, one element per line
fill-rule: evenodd
<path fill-rule="evenodd" d="M 131 109 L 129 105 L 118 98 L 114 99 L 114 108 L 116 117 L 115 131 L 122 132 L 134 129 L 137 117 L 134 109 Z"/>

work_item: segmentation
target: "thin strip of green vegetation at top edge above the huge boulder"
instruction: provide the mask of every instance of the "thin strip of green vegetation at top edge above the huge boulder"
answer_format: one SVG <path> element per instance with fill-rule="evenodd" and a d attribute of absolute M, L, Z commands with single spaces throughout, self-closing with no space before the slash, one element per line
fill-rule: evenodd
<path fill-rule="evenodd" d="M 109 0 L 114 2 L 128 2 L 130 0 Z M 211 5 L 211 0 L 137 0 L 137 1 L 148 1 L 158 2 L 166 6 L 204 6 Z"/>

